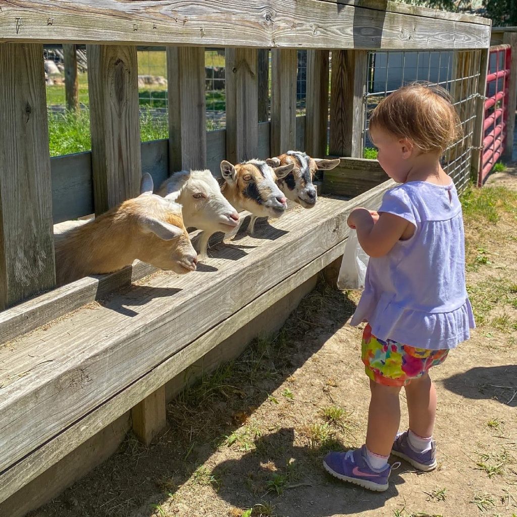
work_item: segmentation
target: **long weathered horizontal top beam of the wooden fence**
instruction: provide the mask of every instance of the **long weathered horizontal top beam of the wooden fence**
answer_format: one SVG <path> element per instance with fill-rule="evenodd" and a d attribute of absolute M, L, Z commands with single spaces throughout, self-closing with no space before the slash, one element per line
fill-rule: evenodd
<path fill-rule="evenodd" d="M 232 0 L 217 7 L 209 0 L 77 0 L 70 16 L 70 7 L 58 0 L 3 2 L 0 41 L 450 50 L 488 47 L 490 40 L 483 19 L 466 22 L 393 2 Z"/>

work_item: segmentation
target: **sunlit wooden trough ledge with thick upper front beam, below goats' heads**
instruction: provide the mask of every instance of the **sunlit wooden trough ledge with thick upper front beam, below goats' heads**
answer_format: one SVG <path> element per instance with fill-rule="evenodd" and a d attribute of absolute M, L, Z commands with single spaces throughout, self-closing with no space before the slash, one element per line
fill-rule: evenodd
<path fill-rule="evenodd" d="M 210 271 L 162 272 L 0 349 L 0 472 L 339 244 L 349 211 L 387 185 L 354 203 L 322 199 L 303 212 L 303 225 L 299 210 L 290 211 L 275 226 L 261 225 L 255 237 L 222 246 L 207 260 Z"/>

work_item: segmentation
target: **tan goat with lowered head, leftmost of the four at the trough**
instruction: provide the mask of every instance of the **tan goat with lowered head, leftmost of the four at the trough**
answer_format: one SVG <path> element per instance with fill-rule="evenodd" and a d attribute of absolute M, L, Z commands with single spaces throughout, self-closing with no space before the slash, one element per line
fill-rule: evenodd
<path fill-rule="evenodd" d="M 149 174 L 142 177 L 141 192 L 93 220 L 56 225 L 57 285 L 117 271 L 136 258 L 179 274 L 195 271 L 197 254 L 181 205 L 153 194 Z"/>

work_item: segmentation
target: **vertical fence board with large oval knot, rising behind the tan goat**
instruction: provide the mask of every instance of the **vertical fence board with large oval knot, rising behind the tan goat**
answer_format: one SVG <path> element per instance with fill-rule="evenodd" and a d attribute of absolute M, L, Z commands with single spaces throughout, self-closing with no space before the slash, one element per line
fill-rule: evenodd
<path fill-rule="evenodd" d="M 95 214 L 139 194 L 136 47 L 87 45 Z"/>

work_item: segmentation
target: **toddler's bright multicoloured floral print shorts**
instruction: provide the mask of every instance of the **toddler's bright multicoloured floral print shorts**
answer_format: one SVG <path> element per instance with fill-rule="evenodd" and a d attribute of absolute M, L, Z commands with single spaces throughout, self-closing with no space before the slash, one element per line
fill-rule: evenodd
<path fill-rule="evenodd" d="M 372 334 L 368 324 L 362 334 L 361 359 L 366 374 L 378 384 L 405 386 L 421 377 L 432 366 L 442 364 L 448 350 L 426 350 Z"/>

